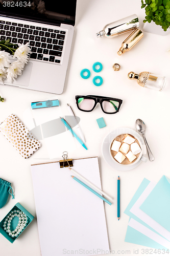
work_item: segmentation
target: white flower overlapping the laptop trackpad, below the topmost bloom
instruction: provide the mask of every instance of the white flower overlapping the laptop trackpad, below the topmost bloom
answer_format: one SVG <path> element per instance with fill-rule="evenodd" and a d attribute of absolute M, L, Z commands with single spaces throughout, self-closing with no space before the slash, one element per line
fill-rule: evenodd
<path fill-rule="evenodd" d="M 17 76 L 20 76 L 24 66 L 23 62 L 15 60 L 7 69 L 7 81 L 12 83 Z"/>

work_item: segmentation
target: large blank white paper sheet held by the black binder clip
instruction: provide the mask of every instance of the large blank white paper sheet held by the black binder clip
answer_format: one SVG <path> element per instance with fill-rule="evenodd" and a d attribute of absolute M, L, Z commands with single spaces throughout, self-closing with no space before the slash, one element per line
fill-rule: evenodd
<path fill-rule="evenodd" d="M 97 157 L 73 164 L 72 168 L 101 188 Z M 82 255 L 82 250 L 93 255 L 100 254 L 97 249 L 109 250 L 103 200 L 72 179 L 74 174 L 60 168 L 59 162 L 32 165 L 31 170 L 41 255 L 61 256 L 71 251 Z"/>

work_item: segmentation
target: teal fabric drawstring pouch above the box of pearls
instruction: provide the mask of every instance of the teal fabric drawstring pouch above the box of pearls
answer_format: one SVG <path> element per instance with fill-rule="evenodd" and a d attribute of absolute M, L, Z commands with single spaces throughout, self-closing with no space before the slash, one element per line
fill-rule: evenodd
<path fill-rule="evenodd" d="M 12 190 L 11 183 L 0 178 L 0 209 L 6 204 L 9 194 L 14 199 L 13 190 L 11 194 L 10 189 Z"/>

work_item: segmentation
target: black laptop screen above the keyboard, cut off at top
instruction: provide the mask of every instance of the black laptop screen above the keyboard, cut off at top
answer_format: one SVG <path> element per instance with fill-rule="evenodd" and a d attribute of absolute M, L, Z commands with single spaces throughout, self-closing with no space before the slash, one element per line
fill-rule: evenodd
<path fill-rule="evenodd" d="M 0 0 L 0 15 L 60 25 L 75 25 L 76 0 Z"/>

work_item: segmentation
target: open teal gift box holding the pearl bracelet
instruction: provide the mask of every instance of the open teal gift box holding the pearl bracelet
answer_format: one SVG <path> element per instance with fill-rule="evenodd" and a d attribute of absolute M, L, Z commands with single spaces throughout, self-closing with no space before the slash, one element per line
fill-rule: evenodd
<path fill-rule="evenodd" d="M 9 236 L 9 233 L 7 233 L 5 230 L 4 230 L 4 221 L 6 219 L 6 217 L 10 214 L 11 211 L 14 211 L 14 210 L 20 210 L 20 211 L 23 211 L 23 213 L 25 215 L 27 215 L 28 217 L 28 223 L 27 223 L 27 226 L 18 234 L 17 237 L 14 237 L 12 238 L 11 236 Z M 4 219 L 0 222 L 0 233 L 2 233 L 2 235 L 8 239 L 8 241 L 10 241 L 11 243 L 13 243 L 19 236 L 20 234 L 28 227 L 28 225 L 32 222 L 32 220 L 34 219 L 34 216 L 32 216 L 30 214 L 30 212 L 28 210 L 26 210 L 22 205 L 20 205 L 20 203 L 17 203 L 15 204 L 15 206 L 8 212 L 8 214 L 4 217 Z M 14 230 L 16 228 L 16 226 L 18 225 L 18 217 L 15 216 L 12 221 L 11 221 L 11 230 Z M 7 222 L 8 223 L 8 222 Z"/>

